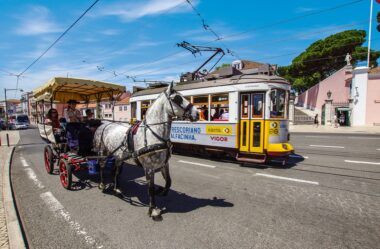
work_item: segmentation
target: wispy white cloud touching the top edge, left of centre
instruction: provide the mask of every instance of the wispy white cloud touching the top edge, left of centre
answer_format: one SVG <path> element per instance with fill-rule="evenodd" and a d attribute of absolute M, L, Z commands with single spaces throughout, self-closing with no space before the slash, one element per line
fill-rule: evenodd
<path fill-rule="evenodd" d="M 122 21 L 130 22 L 145 16 L 189 11 L 190 7 L 185 4 L 186 2 L 183 0 L 147 0 L 142 3 L 125 3 L 123 1 L 103 8 L 97 15 L 116 16 Z"/>

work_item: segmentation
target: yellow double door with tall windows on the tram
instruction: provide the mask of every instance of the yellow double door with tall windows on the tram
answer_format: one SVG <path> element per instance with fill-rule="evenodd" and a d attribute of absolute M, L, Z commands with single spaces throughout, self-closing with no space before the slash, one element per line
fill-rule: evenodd
<path fill-rule="evenodd" d="M 265 93 L 240 95 L 240 151 L 262 153 L 264 149 Z"/>

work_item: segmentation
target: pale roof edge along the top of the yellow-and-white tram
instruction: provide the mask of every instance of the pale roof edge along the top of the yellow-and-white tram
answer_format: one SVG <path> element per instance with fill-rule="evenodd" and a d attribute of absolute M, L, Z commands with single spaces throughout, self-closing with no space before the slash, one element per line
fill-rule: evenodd
<path fill-rule="evenodd" d="M 183 91 L 183 90 L 228 86 L 228 85 L 236 85 L 236 84 L 247 84 L 247 83 L 280 83 L 280 84 L 287 84 L 287 85 L 290 84 L 286 79 L 279 76 L 259 74 L 259 75 L 236 75 L 236 76 L 232 76 L 230 78 L 224 78 L 224 79 L 178 83 L 177 85 L 174 86 L 174 89 L 177 91 Z M 132 97 L 157 94 L 157 93 L 161 93 L 164 89 L 165 87 L 147 88 L 147 89 L 140 90 L 133 93 Z"/>

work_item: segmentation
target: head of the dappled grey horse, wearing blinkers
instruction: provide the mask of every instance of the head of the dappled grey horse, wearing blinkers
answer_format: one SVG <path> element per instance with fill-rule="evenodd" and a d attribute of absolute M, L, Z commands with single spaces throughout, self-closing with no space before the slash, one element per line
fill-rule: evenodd
<path fill-rule="evenodd" d="M 197 108 L 185 99 L 182 94 L 173 89 L 173 82 L 170 83 L 164 94 L 168 100 L 167 108 L 170 115 L 190 119 L 190 121 L 199 120 Z"/>

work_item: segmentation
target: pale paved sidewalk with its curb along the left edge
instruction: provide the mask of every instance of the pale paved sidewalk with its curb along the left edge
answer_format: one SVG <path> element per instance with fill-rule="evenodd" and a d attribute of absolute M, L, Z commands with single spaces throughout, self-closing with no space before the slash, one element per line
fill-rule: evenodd
<path fill-rule="evenodd" d="M 7 146 L 6 134 L 10 146 Z M 14 207 L 10 186 L 9 165 L 14 145 L 20 140 L 18 131 L 0 131 L 0 248 L 25 248 Z"/>

